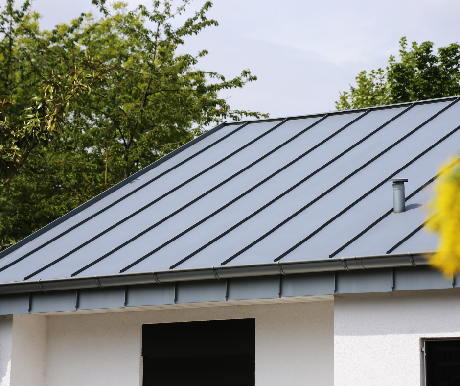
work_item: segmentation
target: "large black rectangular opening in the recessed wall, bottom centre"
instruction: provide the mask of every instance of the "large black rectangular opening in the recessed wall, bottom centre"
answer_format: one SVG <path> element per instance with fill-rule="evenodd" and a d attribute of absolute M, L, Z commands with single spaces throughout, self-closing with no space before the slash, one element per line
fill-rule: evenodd
<path fill-rule="evenodd" d="M 142 386 L 254 386 L 255 319 L 142 326 Z"/>

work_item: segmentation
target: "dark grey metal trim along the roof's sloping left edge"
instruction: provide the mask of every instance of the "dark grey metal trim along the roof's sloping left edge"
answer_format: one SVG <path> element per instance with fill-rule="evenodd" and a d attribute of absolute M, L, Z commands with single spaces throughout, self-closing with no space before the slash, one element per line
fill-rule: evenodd
<path fill-rule="evenodd" d="M 233 124 L 244 124 L 244 123 L 246 123 L 246 122 L 234 122 Z M 211 135 L 212 133 L 215 133 L 217 130 L 220 130 L 226 124 L 227 124 L 227 121 L 224 121 L 224 122 L 220 123 L 216 127 L 214 127 L 212 129 L 208 130 L 207 132 L 199 135 L 198 137 L 194 138 L 193 140 L 187 142 L 186 144 L 178 147 L 177 149 L 171 151 L 168 154 L 165 154 L 160 159 L 158 159 L 157 161 L 151 163 L 150 165 L 146 166 L 145 168 L 138 170 L 136 173 L 130 175 L 128 178 L 125 178 L 123 181 L 118 182 L 117 184 L 115 184 L 114 186 L 112 186 L 109 189 L 105 190 L 104 192 L 99 193 L 95 197 L 92 197 L 90 200 L 88 200 L 88 201 L 84 202 L 83 204 L 77 206 L 76 208 L 72 209 L 70 212 L 66 213 L 65 215 L 63 215 L 63 216 L 61 216 L 59 218 L 56 218 L 54 221 L 52 221 L 49 224 L 45 225 L 43 228 L 40 228 L 39 230 L 35 231 L 34 233 L 24 237 L 22 240 L 18 241 L 17 243 L 15 243 L 15 244 L 11 245 L 10 247 L 6 248 L 5 250 L 1 251 L 0 252 L 0 259 L 5 257 L 6 255 L 8 255 L 9 253 L 15 251 L 16 249 L 20 248 L 21 246 L 23 246 L 24 244 L 28 243 L 29 241 L 32 241 L 32 240 L 36 239 L 37 237 L 39 237 L 43 233 L 45 233 L 48 230 L 54 228 L 55 226 L 59 225 L 60 223 L 64 222 L 65 220 L 69 219 L 70 217 L 73 217 L 76 214 L 80 213 L 82 210 L 88 208 L 92 204 L 95 204 L 96 202 L 98 202 L 99 200 L 104 198 L 105 196 L 107 196 L 107 195 L 113 193 L 114 191 L 122 188 L 123 186 L 125 186 L 129 182 L 131 182 L 131 181 L 135 180 L 136 178 L 138 178 L 139 176 L 141 176 L 142 174 L 145 174 L 146 172 L 148 172 L 148 171 L 150 171 L 152 169 L 155 169 L 157 166 L 161 165 L 163 162 L 165 162 L 168 159 L 174 157 L 175 155 L 181 153 L 182 151 L 184 151 L 185 149 L 187 149 L 191 145 L 196 144 L 197 142 L 205 139 L 207 136 Z"/>

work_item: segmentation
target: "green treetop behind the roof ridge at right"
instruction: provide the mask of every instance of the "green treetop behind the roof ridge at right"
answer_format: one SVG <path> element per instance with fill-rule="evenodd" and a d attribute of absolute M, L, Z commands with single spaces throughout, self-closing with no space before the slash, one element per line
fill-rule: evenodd
<path fill-rule="evenodd" d="M 390 56 L 385 70 L 362 71 L 356 87 L 340 94 L 337 110 L 404 103 L 460 95 L 460 45 L 452 43 L 433 53 L 433 43 L 399 41 L 399 61 Z"/>

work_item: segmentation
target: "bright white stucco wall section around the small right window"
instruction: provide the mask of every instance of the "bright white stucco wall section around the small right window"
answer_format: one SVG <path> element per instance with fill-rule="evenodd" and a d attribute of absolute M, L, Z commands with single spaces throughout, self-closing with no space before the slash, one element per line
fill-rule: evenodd
<path fill-rule="evenodd" d="M 339 295 L 334 301 L 336 386 L 420 386 L 421 338 L 460 337 L 460 291 Z"/>

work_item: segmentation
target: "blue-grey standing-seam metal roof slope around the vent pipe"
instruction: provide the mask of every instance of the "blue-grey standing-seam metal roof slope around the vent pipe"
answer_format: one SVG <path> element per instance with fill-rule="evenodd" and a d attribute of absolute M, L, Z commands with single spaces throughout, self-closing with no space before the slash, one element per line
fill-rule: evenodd
<path fill-rule="evenodd" d="M 0 253 L 0 283 L 435 250 L 457 101 L 219 125 Z"/>

